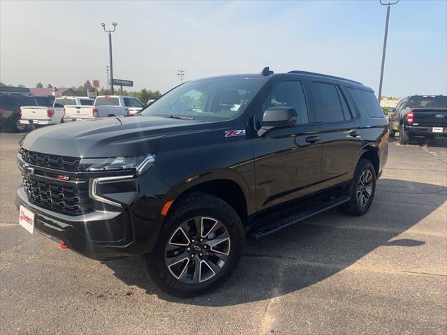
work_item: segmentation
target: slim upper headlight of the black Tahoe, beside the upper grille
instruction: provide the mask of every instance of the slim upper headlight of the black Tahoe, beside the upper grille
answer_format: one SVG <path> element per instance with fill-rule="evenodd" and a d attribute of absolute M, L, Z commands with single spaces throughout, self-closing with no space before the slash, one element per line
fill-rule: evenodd
<path fill-rule="evenodd" d="M 152 168 L 155 155 L 112 158 L 82 158 L 80 168 L 84 171 L 110 171 L 134 169 L 140 176 Z"/>

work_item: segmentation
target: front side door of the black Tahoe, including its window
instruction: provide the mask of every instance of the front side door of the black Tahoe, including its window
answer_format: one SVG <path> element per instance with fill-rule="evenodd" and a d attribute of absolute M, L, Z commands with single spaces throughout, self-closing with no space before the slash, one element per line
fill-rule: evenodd
<path fill-rule="evenodd" d="M 258 112 L 272 106 L 294 107 L 298 120 L 294 127 L 272 129 L 255 137 L 252 147 L 256 169 L 256 207 L 267 209 L 277 204 L 318 191 L 321 179 L 320 128 L 309 113 L 310 101 L 303 81 L 275 84 Z"/>

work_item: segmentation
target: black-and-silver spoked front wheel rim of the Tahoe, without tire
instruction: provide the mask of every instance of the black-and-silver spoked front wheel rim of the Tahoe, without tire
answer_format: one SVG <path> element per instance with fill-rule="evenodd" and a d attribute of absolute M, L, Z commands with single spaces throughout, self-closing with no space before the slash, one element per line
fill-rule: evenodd
<path fill-rule="evenodd" d="M 165 264 L 178 281 L 198 284 L 219 274 L 230 255 L 230 234 L 215 218 L 184 221 L 168 239 Z"/>

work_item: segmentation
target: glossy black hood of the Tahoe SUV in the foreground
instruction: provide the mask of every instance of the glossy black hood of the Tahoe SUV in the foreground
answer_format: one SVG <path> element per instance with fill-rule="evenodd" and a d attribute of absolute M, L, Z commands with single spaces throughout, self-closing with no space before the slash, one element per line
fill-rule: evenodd
<path fill-rule="evenodd" d="M 46 126 L 22 140 L 29 151 L 58 156 L 101 158 L 156 154 L 160 137 L 193 131 L 198 121 L 164 117 L 107 117 Z M 202 127 L 200 127 L 202 128 Z"/>

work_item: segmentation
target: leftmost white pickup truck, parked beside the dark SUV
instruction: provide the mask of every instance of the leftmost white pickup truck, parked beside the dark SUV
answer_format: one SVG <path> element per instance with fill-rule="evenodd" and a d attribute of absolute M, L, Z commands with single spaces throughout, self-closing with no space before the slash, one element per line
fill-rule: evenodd
<path fill-rule="evenodd" d="M 94 100 L 85 96 L 64 96 L 56 98 L 52 107 L 23 106 L 20 107 L 20 123 L 41 126 L 64 122 L 64 108 L 68 105 L 91 106 Z"/>

